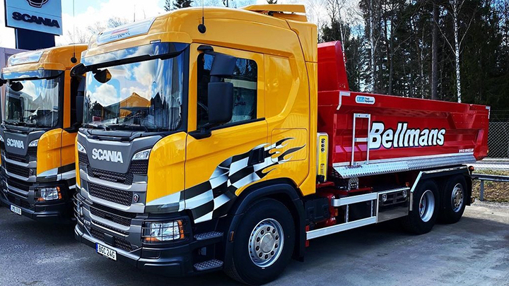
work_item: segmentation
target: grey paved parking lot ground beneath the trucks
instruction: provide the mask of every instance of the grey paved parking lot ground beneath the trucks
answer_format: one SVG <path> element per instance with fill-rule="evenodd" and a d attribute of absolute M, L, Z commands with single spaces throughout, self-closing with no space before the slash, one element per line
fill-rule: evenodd
<path fill-rule="evenodd" d="M 237 285 L 223 273 L 165 278 L 109 261 L 74 240 L 0 208 L 0 285 Z M 509 205 L 476 203 L 456 225 L 412 236 L 397 223 L 321 239 L 271 285 L 509 285 Z"/>

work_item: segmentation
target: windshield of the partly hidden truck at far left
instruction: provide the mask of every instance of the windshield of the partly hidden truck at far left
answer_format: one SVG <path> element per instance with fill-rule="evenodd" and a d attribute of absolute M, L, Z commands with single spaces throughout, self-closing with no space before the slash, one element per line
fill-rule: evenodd
<path fill-rule="evenodd" d="M 6 85 L 5 123 L 19 126 L 57 127 L 62 76 Z"/>

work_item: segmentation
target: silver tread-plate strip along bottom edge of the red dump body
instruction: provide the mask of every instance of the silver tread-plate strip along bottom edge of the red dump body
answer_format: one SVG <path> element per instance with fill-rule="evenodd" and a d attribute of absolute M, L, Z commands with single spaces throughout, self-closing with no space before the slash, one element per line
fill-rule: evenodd
<path fill-rule="evenodd" d="M 476 162 L 474 155 L 460 154 L 440 157 L 420 157 L 416 160 L 399 160 L 397 162 L 378 162 L 368 165 L 334 167 L 334 170 L 343 178 L 366 177 L 394 172 L 407 172 L 419 169 L 447 167 Z"/>

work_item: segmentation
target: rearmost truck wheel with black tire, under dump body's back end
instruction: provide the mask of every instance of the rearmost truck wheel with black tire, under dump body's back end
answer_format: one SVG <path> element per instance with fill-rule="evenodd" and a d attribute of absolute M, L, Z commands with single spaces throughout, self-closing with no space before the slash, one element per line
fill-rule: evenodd
<path fill-rule="evenodd" d="M 440 222 L 455 223 L 460 220 L 465 208 L 467 197 L 467 181 L 462 175 L 450 177 L 445 181 L 442 189 L 442 205 L 440 208 Z"/>

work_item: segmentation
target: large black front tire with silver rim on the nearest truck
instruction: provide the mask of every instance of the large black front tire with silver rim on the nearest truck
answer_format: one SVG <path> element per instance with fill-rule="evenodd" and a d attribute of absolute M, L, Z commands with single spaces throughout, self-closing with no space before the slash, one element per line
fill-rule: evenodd
<path fill-rule="evenodd" d="M 245 213 L 238 229 L 230 267 L 225 273 L 247 285 L 275 280 L 286 268 L 295 245 L 295 225 L 288 208 L 265 198 Z"/>

